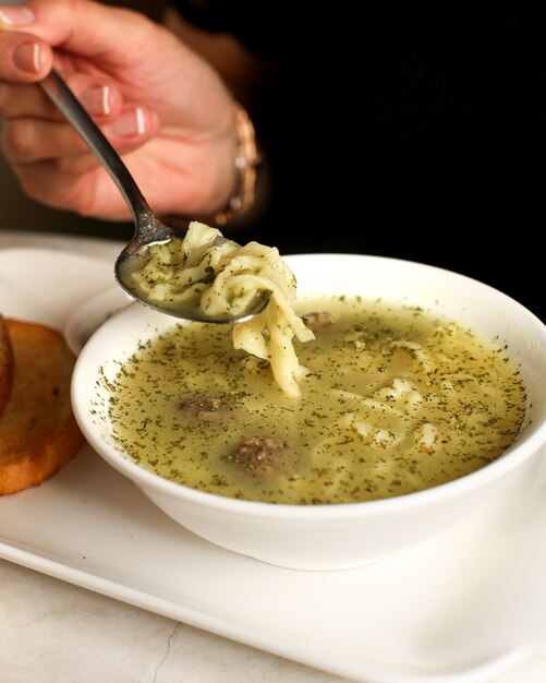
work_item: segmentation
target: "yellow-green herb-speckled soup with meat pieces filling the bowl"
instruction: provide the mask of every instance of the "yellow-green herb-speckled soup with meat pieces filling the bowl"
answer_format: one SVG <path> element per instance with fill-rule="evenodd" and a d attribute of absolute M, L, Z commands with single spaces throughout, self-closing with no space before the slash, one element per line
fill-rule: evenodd
<path fill-rule="evenodd" d="M 411 307 L 302 299 L 315 339 L 289 398 L 229 326 L 177 325 L 124 363 L 110 419 L 143 467 L 269 503 L 384 499 L 474 470 L 513 441 L 525 394 L 507 349 Z M 306 315 L 308 313 L 308 315 Z"/>

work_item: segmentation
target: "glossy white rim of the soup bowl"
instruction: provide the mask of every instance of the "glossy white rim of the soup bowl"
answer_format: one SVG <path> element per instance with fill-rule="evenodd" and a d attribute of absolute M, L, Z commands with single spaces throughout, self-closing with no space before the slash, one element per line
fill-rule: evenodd
<path fill-rule="evenodd" d="M 506 295 L 501 290 L 498 290 L 486 283 L 469 277 L 464 274 L 457 273 L 456 271 L 449 271 L 438 266 L 421 263 L 416 261 L 408 261 L 401 259 L 393 259 L 390 256 L 375 256 L 368 254 L 350 254 L 350 253 L 304 253 L 304 254 L 289 254 L 282 256 L 287 260 L 287 264 L 292 267 L 292 263 L 299 260 L 311 261 L 316 259 L 327 260 L 345 260 L 357 259 L 362 261 L 373 261 L 377 264 L 384 263 L 389 267 L 403 266 L 415 268 L 420 272 L 428 272 L 429 274 L 438 273 L 442 277 L 453 277 L 458 281 L 468 280 L 472 286 L 478 286 L 484 292 L 488 291 L 490 296 L 500 298 L 508 305 L 510 305 L 514 313 L 524 315 L 529 323 L 536 327 L 537 336 L 543 337 L 544 348 L 546 349 L 546 325 L 529 309 L 523 307 L 515 299 Z M 184 499 L 189 503 L 194 503 L 199 506 L 220 510 L 228 514 L 245 514 L 252 516 L 258 516 L 263 518 L 275 519 L 293 519 L 298 518 L 302 522 L 312 519 L 344 519 L 356 517 L 373 517 L 384 516 L 390 514 L 398 514 L 401 511 L 409 511 L 414 507 L 426 507 L 438 500 L 448 501 L 465 492 L 473 491 L 488 482 L 493 482 L 502 477 L 506 472 L 514 469 L 519 464 L 526 460 L 530 456 L 535 454 L 546 443 L 546 420 L 542 423 L 535 424 L 530 433 L 525 431 L 530 430 L 530 426 L 523 429 L 518 435 L 514 442 L 495 460 L 487 464 L 485 467 L 480 468 L 473 472 L 459 477 L 458 479 L 430 487 L 421 491 L 407 493 L 402 495 L 391 496 L 387 499 L 372 500 L 372 501 L 359 501 L 349 503 L 321 503 L 316 505 L 298 505 L 293 503 L 269 503 L 262 501 L 247 501 L 239 500 L 229 496 L 225 496 L 218 493 L 208 491 L 201 491 L 192 487 L 187 487 L 182 483 L 173 482 L 161 475 L 158 475 L 151 470 L 145 469 L 138 463 L 131 458 L 130 455 L 123 453 L 121 450 L 114 448 L 111 444 L 107 443 L 98 435 L 97 427 L 93 424 L 90 420 L 90 406 L 89 397 L 84 399 L 80 398 L 81 391 L 81 375 L 84 374 L 84 363 L 87 360 L 88 349 L 97 343 L 96 339 L 99 335 L 107 334 L 108 329 L 112 325 L 118 325 L 119 320 L 123 315 L 130 314 L 134 310 L 141 309 L 143 315 L 153 315 L 157 319 L 159 313 L 154 313 L 141 305 L 139 303 L 132 303 L 126 309 L 117 312 L 110 320 L 101 325 L 99 332 L 97 329 L 87 344 L 85 344 L 78 358 L 76 359 L 74 372 L 72 376 L 72 406 L 74 416 L 80 424 L 86 440 L 94 447 L 97 453 L 106 459 L 114 469 L 125 475 L 136 486 L 144 490 L 153 490 L 155 492 L 163 493 L 170 498 Z M 165 317 L 165 316 L 162 316 Z M 172 324 L 180 324 L 177 319 L 171 319 Z M 143 326 L 144 332 L 144 326 Z M 135 339 L 136 344 L 137 339 Z M 546 351 L 545 351 L 546 352 Z M 88 383 L 86 383 L 88 384 Z M 84 392 L 85 394 L 85 392 Z"/>

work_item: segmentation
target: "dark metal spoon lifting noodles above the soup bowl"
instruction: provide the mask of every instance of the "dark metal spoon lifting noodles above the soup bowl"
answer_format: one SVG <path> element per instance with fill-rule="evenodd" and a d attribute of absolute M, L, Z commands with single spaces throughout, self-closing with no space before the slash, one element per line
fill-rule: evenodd
<path fill-rule="evenodd" d="M 92 152 L 99 158 L 102 166 L 118 185 L 133 214 L 135 224 L 133 239 L 121 251 L 114 264 L 116 279 L 121 287 L 141 303 L 157 309 L 162 313 L 168 313 L 169 315 L 184 320 L 205 323 L 239 323 L 260 313 L 269 301 L 269 295 L 267 292 L 257 293 L 250 308 L 243 314 L 213 317 L 206 315 L 199 307 L 196 307 L 192 302 L 180 303 L 175 309 L 163 308 L 159 303 L 150 302 L 138 292 L 134 291 L 126 276 L 126 273 L 132 269 L 131 261 L 135 260 L 136 263 L 136 261 L 142 260 L 145 255 L 144 252 L 153 244 L 166 243 L 172 239 L 182 239 L 185 230 L 181 231 L 175 228 L 170 228 L 161 223 L 154 214 L 119 154 L 54 69 L 40 82 L 40 85 L 87 143 Z M 225 240 L 225 238 L 218 238 L 217 241 L 220 243 L 222 240 Z"/>

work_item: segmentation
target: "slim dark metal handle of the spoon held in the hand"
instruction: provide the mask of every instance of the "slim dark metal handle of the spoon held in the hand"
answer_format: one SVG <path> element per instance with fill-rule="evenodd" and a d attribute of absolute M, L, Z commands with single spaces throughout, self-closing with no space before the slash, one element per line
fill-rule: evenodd
<path fill-rule="evenodd" d="M 129 172 L 128 167 L 80 104 L 80 100 L 69 88 L 62 76 L 52 69 L 49 75 L 40 82 L 40 85 L 110 173 L 128 203 L 135 223 L 139 225 L 143 218 L 149 220 L 153 216 L 151 209 Z"/>

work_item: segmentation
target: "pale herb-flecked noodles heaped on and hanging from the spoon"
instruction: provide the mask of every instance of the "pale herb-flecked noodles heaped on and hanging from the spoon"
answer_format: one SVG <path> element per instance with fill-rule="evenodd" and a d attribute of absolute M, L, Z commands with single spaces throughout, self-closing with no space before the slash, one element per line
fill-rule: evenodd
<path fill-rule="evenodd" d="M 300 366 L 293 346 L 314 338 L 295 314 L 295 277 L 278 249 L 258 242 L 241 247 L 216 228 L 193 221 L 183 240 L 170 240 L 147 250 L 147 262 L 131 274 L 135 289 L 150 302 L 193 301 L 210 316 L 244 314 L 262 292 L 269 303 L 255 317 L 233 327 L 233 345 L 269 362 L 279 387 L 293 398 L 300 396 Z"/>

